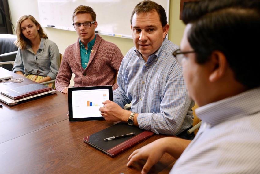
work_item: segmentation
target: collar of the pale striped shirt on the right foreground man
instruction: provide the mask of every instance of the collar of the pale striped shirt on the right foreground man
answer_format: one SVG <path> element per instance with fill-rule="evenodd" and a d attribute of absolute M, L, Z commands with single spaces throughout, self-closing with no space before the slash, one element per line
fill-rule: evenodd
<path fill-rule="evenodd" d="M 260 87 L 199 107 L 195 113 L 202 121 L 214 126 L 260 112 L 259 99 Z"/>

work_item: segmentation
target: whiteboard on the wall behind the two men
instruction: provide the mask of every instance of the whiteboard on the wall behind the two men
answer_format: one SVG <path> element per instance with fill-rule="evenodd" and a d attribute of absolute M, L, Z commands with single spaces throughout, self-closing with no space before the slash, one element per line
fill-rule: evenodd
<path fill-rule="evenodd" d="M 75 31 L 72 14 L 79 5 L 93 8 L 96 13 L 98 34 L 132 38 L 130 17 L 141 0 L 38 0 L 40 24 Z M 169 21 L 169 0 L 154 0 L 162 5 Z"/>

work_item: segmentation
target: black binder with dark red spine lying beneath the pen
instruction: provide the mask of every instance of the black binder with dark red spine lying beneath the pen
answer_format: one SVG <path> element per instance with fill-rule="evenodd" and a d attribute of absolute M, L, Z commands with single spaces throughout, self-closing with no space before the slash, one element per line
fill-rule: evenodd
<path fill-rule="evenodd" d="M 134 132 L 134 136 L 127 136 L 113 140 L 104 140 L 108 137 L 120 136 L 130 132 Z M 120 122 L 85 137 L 84 143 L 89 144 L 90 146 L 102 151 L 110 157 L 115 157 L 123 151 L 133 147 L 137 143 L 140 143 L 153 135 L 153 132 L 140 129 L 137 126 L 129 126 L 127 123 Z"/>

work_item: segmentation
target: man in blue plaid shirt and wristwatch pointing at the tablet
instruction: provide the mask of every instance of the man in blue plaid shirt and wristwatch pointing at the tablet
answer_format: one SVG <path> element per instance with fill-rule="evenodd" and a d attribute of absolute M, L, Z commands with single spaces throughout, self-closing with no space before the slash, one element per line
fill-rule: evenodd
<path fill-rule="evenodd" d="M 165 10 L 153 1 L 142 1 L 130 22 L 135 47 L 121 63 L 114 102 L 103 102 L 101 115 L 157 134 L 192 139 L 185 130 L 193 123 L 194 102 L 188 98 L 181 66 L 172 55 L 178 47 L 166 38 L 169 24 Z M 131 111 L 123 110 L 130 101 Z"/>

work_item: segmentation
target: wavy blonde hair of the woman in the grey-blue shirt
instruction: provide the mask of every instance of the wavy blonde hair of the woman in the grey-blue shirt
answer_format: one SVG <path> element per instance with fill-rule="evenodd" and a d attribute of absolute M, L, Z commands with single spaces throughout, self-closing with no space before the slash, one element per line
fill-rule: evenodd
<path fill-rule="evenodd" d="M 16 35 L 17 35 L 17 40 L 14 42 L 14 44 L 19 47 L 21 50 L 26 48 L 26 45 L 32 45 L 32 43 L 30 42 L 30 40 L 28 38 L 26 38 L 24 36 L 24 34 L 21 31 L 21 24 L 24 20 L 26 19 L 30 19 L 32 20 L 32 22 L 36 25 L 39 26 L 39 30 L 38 30 L 38 34 L 40 36 L 40 38 L 45 38 L 47 39 L 48 36 L 47 34 L 45 34 L 43 32 L 42 26 L 37 22 L 37 20 L 32 16 L 32 15 L 24 15 L 21 16 L 18 20 L 17 20 L 17 24 L 16 24 Z"/>

